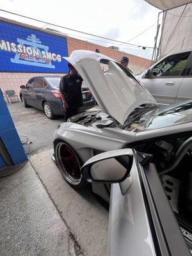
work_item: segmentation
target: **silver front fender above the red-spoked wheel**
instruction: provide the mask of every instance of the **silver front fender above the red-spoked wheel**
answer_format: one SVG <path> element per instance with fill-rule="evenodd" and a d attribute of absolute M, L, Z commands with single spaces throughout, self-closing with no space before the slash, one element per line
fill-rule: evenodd
<path fill-rule="evenodd" d="M 122 129 L 97 129 L 66 122 L 56 129 L 54 140 L 65 140 L 85 162 L 93 156 L 93 149 L 101 151 L 116 150 L 124 147 L 126 143 L 133 142 L 134 136 L 135 132 L 127 132 Z"/>

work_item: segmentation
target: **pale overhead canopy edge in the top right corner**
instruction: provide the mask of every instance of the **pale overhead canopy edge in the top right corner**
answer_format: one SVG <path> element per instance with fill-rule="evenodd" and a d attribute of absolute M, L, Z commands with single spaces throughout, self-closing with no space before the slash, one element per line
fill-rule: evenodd
<path fill-rule="evenodd" d="M 192 3 L 191 0 L 145 0 L 145 1 L 163 11 L 181 6 L 182 4 Z"/>

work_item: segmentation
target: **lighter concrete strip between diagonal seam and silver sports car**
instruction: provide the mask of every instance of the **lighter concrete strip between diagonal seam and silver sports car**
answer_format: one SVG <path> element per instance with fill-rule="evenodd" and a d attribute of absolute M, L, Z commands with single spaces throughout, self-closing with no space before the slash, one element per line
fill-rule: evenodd
<path fill-rule="evenodd" d="M 63 179 L 52 162 L 52 150 L 31 156 L 31 164 L 44 184 L 52 203 L 70 232 L 88 256 L 105 256 L 108 236 L 108 210 L 93 196 L 90 188 L 76 191 Z"/>

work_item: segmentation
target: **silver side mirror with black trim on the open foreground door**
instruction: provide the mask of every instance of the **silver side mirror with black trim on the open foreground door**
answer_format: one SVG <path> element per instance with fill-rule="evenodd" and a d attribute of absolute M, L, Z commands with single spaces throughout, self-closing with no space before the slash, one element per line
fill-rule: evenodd
<path fill-rule="evenodd" d="M 85 180 L 92 183 L 119 183 L 131 172 L 131 149 L 104 152 L 89 159 L 81 168 Z"/>

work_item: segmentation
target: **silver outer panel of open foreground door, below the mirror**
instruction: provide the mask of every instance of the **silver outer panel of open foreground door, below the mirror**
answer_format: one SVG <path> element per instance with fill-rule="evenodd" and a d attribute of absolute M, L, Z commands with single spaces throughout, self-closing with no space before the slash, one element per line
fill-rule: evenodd
<path fill-rule="evenodd" d="M 156 255 L 135 159 L 130 176 L 111 184 L 107 255 Z"/>

